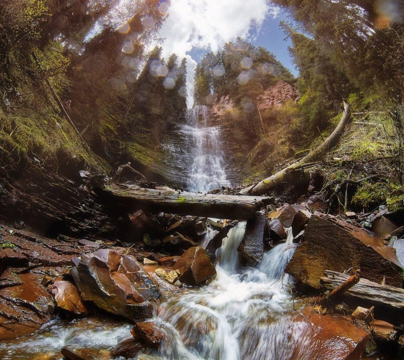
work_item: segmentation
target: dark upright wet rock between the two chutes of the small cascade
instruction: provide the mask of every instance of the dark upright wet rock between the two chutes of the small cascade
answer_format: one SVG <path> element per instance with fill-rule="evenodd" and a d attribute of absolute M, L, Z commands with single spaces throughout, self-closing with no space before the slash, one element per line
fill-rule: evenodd
<path fill-rule="evenodd" d="M 261 212 L 256 212 L 254 218 L 247 220 L 244 238 L 237 249 L 242 257 L 253 262 L 262 260 L 266 225 L 267 218 Z"/>

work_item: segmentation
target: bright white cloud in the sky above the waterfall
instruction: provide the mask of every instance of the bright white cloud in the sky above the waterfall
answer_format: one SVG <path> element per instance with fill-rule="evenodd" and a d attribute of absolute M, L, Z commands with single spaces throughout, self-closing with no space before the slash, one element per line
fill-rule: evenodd
<path fill-rule="evenodd" d="M 160 30 L 160 36 L 165 38 L 163 56 L 168 58 L 175 52 L 179 58 L 187 57 L 190 92 L 196 66 L 189 55 L 191 50 L 217 51 L 238 36 L 248 38 L 268 15 L 276 17 L 279 8 L 268 0 L 171 0 L 168 13 Z"/>

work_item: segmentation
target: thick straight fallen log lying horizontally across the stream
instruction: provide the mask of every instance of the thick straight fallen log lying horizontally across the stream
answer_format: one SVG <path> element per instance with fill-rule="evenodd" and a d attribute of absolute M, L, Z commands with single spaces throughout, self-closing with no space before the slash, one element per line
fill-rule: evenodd
<path fill-rule="evenodd" d="M 103 196 L 109 204 L 127 211 L 141 209 L 182 215 L 244 220 L 273 202 L 270 197 L 187 193 L 163 189 L 143 189 L 127 185 L 111 185 Z"/>

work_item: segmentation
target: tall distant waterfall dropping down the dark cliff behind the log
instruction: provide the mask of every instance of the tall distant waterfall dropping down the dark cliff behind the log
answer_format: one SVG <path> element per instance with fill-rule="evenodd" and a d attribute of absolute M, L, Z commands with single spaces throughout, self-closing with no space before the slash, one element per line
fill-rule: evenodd
<path fill-rule="evenodd" d="M 208 108 L 196 105 L 188 109 L 187 124 L 181 127 L 188 150 L 187 185 L 192 192 L 208 192 L 230 186 L 224 170 L 220 128 L 209 126 L 208 121 Z"/>

